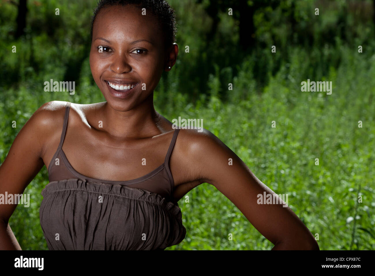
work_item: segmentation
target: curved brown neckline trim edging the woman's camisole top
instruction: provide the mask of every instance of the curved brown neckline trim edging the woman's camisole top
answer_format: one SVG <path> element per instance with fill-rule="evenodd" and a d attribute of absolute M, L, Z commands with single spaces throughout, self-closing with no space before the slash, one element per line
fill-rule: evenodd
<path fill-rule="evenodd" d="M 154 175 L 157 175 L 157 173 L 159 173 L 160 171 L 162 171 L 163 169 L 165 169 L 165 162 L 164 162 L 163 164 L 161 164 L 159 167 L 157 167 L 156 169 L 152 170 L 151 172 L 149 172 L 149 173 L 147 173 L 145 175 L 142 175 L 142 176 L 140 176 L 138 178 L 135 178 L 135 179 L 125 180 L 125 181 L 121 181 L 121 180 L 104 180 L 104 179 L 92 178 L 92 177 L 83 175 L 82 173 L 79 173 L 77 170 L 74 169 L 74 167 L 72 166 L 72 164 L 69 162 L 69 160 L 66 157 L 66 154 L 65 154 L 65 152 L 63 151 L 62 148 L 60 148 L 60 153 L 61 153 L 61 155 L 63 157 L 63 161 L 64 161 L 65 165 L 68 167 L 68 169 L 70 170 L 71 173 L 73 173 L 75 176 L 77 176 L 80 179 L 87 179 L 87 180 L 93 181 L 93 182 L 110 183 L 110 184 L 123 184 L 123 185 L 136 184 L 136 183 L 139 183 L 139 182 L 143 182 L 146 179 L 153 177 Z"/>

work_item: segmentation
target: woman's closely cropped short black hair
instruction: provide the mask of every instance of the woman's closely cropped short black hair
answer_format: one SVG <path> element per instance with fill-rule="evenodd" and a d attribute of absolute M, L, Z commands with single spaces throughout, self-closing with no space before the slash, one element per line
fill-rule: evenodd
<path fill-rule="evenodd" d="M 164 34 L 165 48 L 172 45 L 176 40 L 177 23 L 175 11 L 171 5 L 165 0 L 100 0 L 94 9 L 91 17 L 91 40 L 93 35 L 93 26 L 96 15 L 103 8 L 110 6 L 127 6 L 134 5 L 139 8 L 145 8 L 147 12 L 151 12 L 159 20 L 159 25 Z"/>

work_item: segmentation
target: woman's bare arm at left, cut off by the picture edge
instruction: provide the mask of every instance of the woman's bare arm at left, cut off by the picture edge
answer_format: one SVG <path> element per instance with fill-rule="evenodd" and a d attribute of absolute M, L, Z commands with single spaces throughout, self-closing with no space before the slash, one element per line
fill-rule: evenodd
<path fill-rule="evenodd" d="M 48 139 L 56 130 L 57 114 L 53 112 L 62 103 L 52 101 L 43 104 L 30 117 L 17 134 L 9 152 L 0 166 L 0 194 L 23 194 L 27 185 L 44 166 L 43 153 Z M 11 122 L 9 122 L 10 124 Z M 17 204 L 0 204 L 0 249 L 21 250 L 8 224 Z M 24 208 L 20 205 L 19 208 Z"/>

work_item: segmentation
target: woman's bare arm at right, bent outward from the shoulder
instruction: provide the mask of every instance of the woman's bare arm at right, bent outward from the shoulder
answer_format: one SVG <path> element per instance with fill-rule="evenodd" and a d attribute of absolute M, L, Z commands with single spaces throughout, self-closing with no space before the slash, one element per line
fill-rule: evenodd
<path fill-rule="evenodd" d="M 192 131 L 195 134 L 192 135 Z M 189 131 L 189 154 L 195 157 L 193 170 L 225 195 L 249 222 L 275 246 L 272 250 L 319 250 L 314 236 L 285 202 L 265 202 L 264 193 L 279 199 L 246 164 L 210 131 Z M 191 158 L 189 158 L 191 160 Z M 190 163 L 191 166 L 191 163 Z M 264 200 L 264 201 L 263 201 Z M 284 205 L 284 207 L 283 207 Z"/>

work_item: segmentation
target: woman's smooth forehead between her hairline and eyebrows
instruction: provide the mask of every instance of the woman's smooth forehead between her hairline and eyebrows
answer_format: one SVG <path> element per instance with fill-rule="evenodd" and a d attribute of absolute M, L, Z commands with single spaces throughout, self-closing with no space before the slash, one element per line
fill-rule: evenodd
<path fill-rule="evenodd" d="M 160 45 L 162 33 L 157 18 L 150 11 L 145 12 L 142 15 L 142 8 L 133 5 L 102 8 L 95 18 L 93 39 L 104 37 L 122 42 L 142 38 Z"/>

